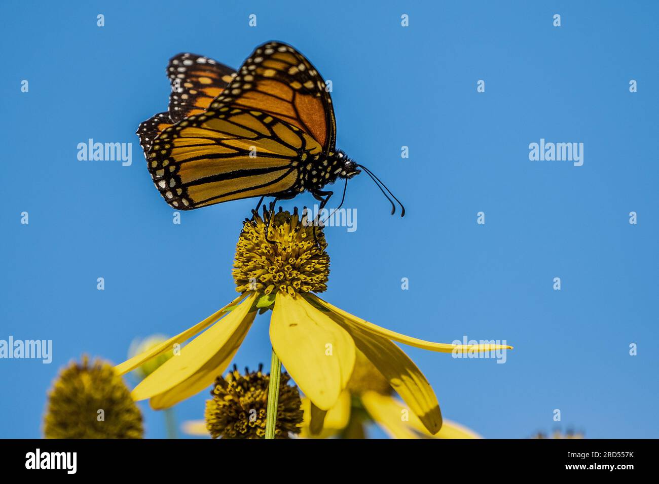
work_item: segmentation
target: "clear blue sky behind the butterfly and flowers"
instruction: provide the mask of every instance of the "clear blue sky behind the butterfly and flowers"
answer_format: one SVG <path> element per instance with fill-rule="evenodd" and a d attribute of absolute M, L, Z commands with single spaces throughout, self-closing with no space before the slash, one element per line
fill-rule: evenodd
<path fill-rule="evenodd" d="M 167 107 L 169 57 L 238 67 L 273 39 L 332 80 L 337 146 L 407 207 L 391 217 L 366 176 L 351 180 L 358 228 L 327 230 L 323 297 L 420 338 L 515 346 L 505 364 L 405 348 L 444 417 L 484 437 L 659 437 L 659 7 L 544 4 L 3 2 L 0 339 L 53 340 L 53 362 L 0 360 L 0 437 L 40 436 L 45 392 L 71 358 L 121 362 L 136 336 L 174 335 L 235 297 L 235 242 L 255 201 L 173 225 L 134 132 Z M 78 161 L 88 138 L 131 142 L 132 165 Z M 583 166 L 530 161 L 540 138 L 583 142 Z M 260 317 L 235 362 L 269 361 Z M 205 398 L 177 417 L 202 417 Z M 162 416 L 140 406 L 147 436 L 163 437 Z"/>

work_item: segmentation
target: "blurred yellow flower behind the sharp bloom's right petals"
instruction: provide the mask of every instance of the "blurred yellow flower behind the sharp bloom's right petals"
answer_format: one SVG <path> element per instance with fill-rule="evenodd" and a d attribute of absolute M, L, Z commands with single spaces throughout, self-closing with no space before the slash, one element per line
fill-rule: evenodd
<path fill-rule="evenodd" d="M 302 410 L 301 437 L 306 438 L 364 439 L 364 425 L 374 422 L 392 439 L 480 439 L 467 427 L 448 420 L 438 433 L 430 433 L 419 417 L 393 396 L 389 381 L 359 350 L 353 375 L 324 421 L 322 415 L 316 418 L 308 398 L 302 399 Z"/>

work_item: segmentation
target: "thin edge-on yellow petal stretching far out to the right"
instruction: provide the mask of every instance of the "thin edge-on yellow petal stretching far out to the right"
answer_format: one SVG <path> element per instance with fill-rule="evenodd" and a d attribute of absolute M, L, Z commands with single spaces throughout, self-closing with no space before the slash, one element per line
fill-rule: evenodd
<path fill-rule="evenodd" d="M 411 336 L 401 335 L 401 333 L 396 333 L 395 331 L 389 331 L 368 321 L 364 321 L 357 316 L 353 316 L 351 313 L 343 311 L 343 309 L 336 308 L 328 302 L 318 298 L 318 296 L 308 293 L 306 297 L 310 301 L 319 304 L 320 306 L 333 311 L 333 313 L 353 321 L 353 323 L 362 326 L 366 331 L 370 331 L 374 335 L 380 335 L 384 338 L 401 342 L 403 344 L 408 344 L 409 346 L 415 346 L 416 348 L 421 348 L 422 350 L 436 351 L 440 353 L 467 353 L 471 352 L 487 352 L 494 350 L 512 350 L 512 346 L 507 346 L 504 344 L 447 344 L 447 343 L 434 343 L 432 341 L 420 340 L 418 338 L 413 338 Z"/>

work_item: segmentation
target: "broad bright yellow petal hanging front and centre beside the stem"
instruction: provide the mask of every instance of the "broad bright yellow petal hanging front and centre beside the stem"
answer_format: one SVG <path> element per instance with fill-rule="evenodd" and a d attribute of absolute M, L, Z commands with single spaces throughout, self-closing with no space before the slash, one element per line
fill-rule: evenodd
<path fill-rule="evenodd" d="M 347 331 L 301 296 L 278 291 L 270 341 L 300 390 L 320 410 L 329 410 L 355 365 L 355 342 Z"/>

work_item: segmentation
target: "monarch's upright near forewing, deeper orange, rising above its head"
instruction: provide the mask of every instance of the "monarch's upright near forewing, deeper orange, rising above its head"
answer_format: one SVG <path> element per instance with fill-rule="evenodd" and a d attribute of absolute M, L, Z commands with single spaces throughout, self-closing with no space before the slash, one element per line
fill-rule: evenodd
<path fill-rule="evenodd" d="M 212 103 L 256 109 L 297 126 L 334 151 L 336 122 L 331 97 L 318 70 L 295 48 L 281 42 L 256 47 L 227 88 Z"/>

